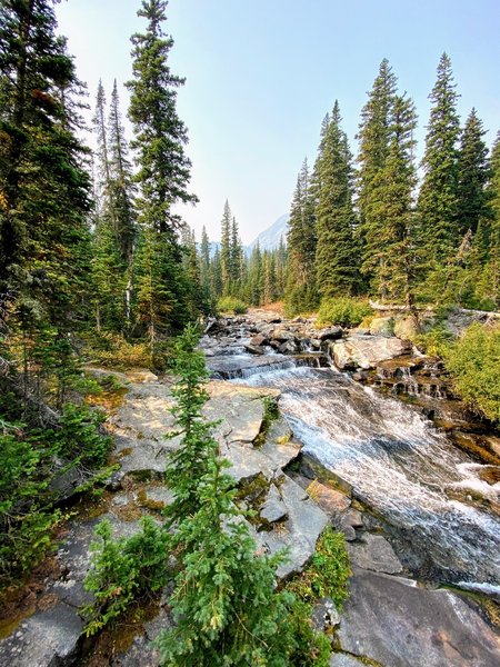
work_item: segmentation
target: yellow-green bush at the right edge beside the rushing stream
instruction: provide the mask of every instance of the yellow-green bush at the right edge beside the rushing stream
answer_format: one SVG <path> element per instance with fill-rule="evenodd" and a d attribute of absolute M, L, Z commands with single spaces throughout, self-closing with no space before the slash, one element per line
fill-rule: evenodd
<path fill-rule="evenodd" d="M 471 325 L 443 350 L 454 390 L 473 409 L 500 421 L 500 325 Z"/>

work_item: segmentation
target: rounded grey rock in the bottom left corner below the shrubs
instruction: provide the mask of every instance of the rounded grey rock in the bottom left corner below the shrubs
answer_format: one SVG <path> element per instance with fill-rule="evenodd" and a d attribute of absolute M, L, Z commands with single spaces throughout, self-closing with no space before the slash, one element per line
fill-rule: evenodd
<path fill-rule="evenodd" d="M 56 667 L 70 665 L 77 651 L 83 621 L 78 609 L 59 604 L 37 611 L 0 641 L 0 665 L 6 667 Z"/>

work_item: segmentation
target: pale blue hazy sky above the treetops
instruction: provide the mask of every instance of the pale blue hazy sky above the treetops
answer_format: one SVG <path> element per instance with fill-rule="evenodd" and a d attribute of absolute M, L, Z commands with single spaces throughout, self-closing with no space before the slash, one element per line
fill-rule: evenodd
<path fill-rule="evenodd" d="M 146 22 L 140 0 L 69 0 L 58 8 L 93 104 L 99 78 L 120 86 L 123 115 L 131 76 L 130 34 Z M 183 211 L 199 238 L 219 238 L 229 199 L 244 242 L 287 212 L 297 173 L 312 163 L 321 120 L 337 98 L 356 151 L 359 115 L 382 58 L 416 101 L 419 155 L 427 99 L 442 51 L 451 58 L 459 110 L 471 107 L 500 128 L 498 0 L 170 0 L 169 64 L 186 77 L 178 111 L 189 129 L 191 190 Z"/>

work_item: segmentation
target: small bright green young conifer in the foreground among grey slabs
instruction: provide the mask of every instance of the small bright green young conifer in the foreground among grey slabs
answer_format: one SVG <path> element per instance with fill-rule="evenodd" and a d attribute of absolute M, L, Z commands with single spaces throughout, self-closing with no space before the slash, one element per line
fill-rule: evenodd
<path fill-rule="evenodd" d="M 214 425 L 202 417 L 208 374 L 197 340 L 190 327 L 177 345 L 173 411 L 183 437 L 167 468 L 173 502 L 166 512 L 183 568 L 171 597 L 176 626 L 157 645 L 162 664 L 172 667 L 286 667 L 294 648 L 293 597 L 274 591 L 281 557 L 256 555 L 236 481 L 211 436 Z"/>

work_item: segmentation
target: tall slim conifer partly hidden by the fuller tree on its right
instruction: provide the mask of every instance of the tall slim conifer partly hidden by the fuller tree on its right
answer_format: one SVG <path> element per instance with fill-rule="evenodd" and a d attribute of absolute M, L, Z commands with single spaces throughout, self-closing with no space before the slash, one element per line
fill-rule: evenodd
<path fill-rule="evenodd" d="M 359 153 L 358 210 L 360 216 L 358 238 L 361 246 L 363 273 L 370 282 L 372 275 L 371 250 L 366 247 L 367 235 L 377 235 L 379 219 L 373 216 L 372 207 L 379 200 L 377 189 L 380 186 L 380 171 L 384 169 L 389 156 L 391 125 L 396 98 L 397 79 L 389 61 L 384 58 L 379 73 L 368 93 L 368 101 L 361 111 L 361 122 L 357 139 Z"/>

